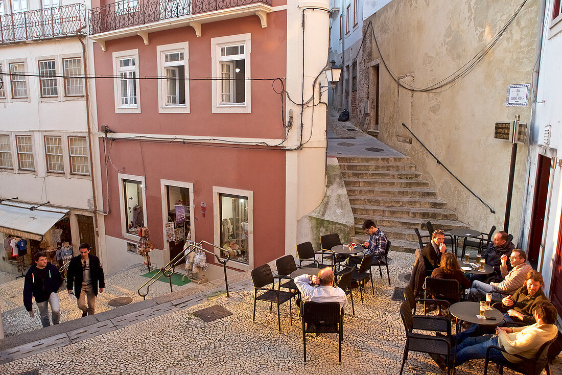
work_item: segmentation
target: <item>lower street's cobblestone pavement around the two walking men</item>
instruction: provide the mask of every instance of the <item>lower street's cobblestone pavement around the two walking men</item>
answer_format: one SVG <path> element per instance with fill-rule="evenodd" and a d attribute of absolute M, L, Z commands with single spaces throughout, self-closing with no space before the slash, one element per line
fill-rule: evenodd
<path fill-rule="evenodd" d="M 96 313 L 114 309 L 107 302 L 116 297 L 126 296 L 131 297 L 133 302 L 142 301 L 142 297 L 138 295 L 137 290 L 139 286 L 148 281 L 148 278 L 141 276 L 147 272 L 146 266 L 139 264 L 106 277 L 106 288 L 103 293 L 98 293 L 96 298 Z M 23 301 L 24 279 L 15 279 L 15 276 L 12 273 L 0 272 L 0 311 L 2 311 L 2 324 L 6 337 L 42 328 L 39 310 L 35 302 L 33 303 L 35 318 L 30 318 L 28 311 L 25 310 Z M 196 283 L 188 283 L 185 286 L 174 285 L 173 289 L 174 291 L 182 290 L 194 285 Z M 161 296 L 169 292 L 170 285 L 167 282 L 157 281 L 150 287 L 147 298 Z M 76 300 L 70 299 L 66 291 L 66 284 L 63 284 L 61 291 L 58 292 L 58 298 L 61 302 L 61 322 L 81 317 L 82 311 L 78 309 Z"/>

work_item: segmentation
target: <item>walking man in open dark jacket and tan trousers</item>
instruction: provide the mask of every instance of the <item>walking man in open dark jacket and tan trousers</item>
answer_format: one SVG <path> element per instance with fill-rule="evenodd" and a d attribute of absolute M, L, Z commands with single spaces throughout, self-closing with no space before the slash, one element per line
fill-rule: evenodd
<path fill-rule="evenodd" d="M 105 278 L 103 277 L 103 268 L 99 263 L 99 258 L 95 255 L 90 255 L 89 243 L 82 243 L 80 245 L 80 255 L 70 260 L 66 277 L 66 288 L 69 293 L 72 293 L 72 287 L 75 287 L 78 308 L 82 310 L 82 317 L 93 315 L 98 287 L 99 292 L 103 293 Z M 86 305 L 86 297 L 88 297 L 88 305 Z"/>

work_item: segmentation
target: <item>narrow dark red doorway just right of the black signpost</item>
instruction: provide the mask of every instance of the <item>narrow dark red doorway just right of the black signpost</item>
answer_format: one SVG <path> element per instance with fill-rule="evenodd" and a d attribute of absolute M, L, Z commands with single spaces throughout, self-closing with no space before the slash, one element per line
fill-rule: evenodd
<path fill-rule="evenodd" d="M 531 214 L 531 234 L 527 259 L 533 263 L 538 262 L 542 243 L 542 230 L 545 227 L 546 204 L 549 193 L 550 157 L 538 155 L 537 178 L 535 180 L 533 211 Z"/>

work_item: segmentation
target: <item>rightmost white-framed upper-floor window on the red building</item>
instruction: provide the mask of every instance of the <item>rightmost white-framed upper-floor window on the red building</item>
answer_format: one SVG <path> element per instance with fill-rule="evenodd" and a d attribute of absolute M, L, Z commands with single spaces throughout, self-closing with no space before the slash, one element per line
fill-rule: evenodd
<path fill-rule="evenodd" d="M 251 112 L 250 34 L 211 38 L 211 48 L 213 112 Z"/>

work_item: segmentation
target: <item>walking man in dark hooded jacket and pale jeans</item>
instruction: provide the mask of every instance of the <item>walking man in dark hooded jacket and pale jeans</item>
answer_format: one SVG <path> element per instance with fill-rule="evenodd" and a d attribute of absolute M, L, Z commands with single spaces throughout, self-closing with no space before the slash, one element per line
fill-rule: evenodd
<path fill-rule="evenodd" d="M 62 275 L 57 267 L 47 261 L 47 253 L 39 251 L 33 257 L 35 264 L 32 265 L 24 280 L 24 306 L 29 311 L 29 316 L 33 318 L 33 303 L 31 297 L 35 299 L 35 304 L 39 309 L 39 316 L 43 327 L 51 325 L 49 322 L 49 308 L 51 305 L 53 324 L 58 324 L 61 319 L 61 305 L 58 300 L 58 288 L 62 284 Z"/>

